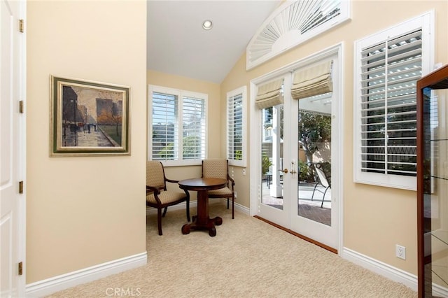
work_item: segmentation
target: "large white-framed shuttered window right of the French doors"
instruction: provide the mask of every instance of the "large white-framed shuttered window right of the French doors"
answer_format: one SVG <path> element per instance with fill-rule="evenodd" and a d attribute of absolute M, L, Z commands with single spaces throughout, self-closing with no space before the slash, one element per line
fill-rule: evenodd
<path fill-rule="evenodd" d="M 355 44 L 356 182 L 416 189 L 416 80 L 432 65 L 429 15 Z"/>

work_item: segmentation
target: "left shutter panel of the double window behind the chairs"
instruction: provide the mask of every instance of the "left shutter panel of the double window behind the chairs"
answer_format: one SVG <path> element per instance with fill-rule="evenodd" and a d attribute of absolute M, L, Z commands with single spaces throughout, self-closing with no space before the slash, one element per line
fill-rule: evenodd
<path fill-rule="evenodd" d="M 178 96 L 153 92 L 153 159 L 173 160 L 177 152 Z"/>

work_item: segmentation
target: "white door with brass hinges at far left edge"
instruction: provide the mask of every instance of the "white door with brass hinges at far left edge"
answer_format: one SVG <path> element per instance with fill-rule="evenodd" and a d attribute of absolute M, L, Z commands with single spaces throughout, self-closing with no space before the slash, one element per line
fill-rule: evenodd
<path fill-rule="evenodd" d="M 0 297 L 25 297 L 25 194 L 19 181 L 25 178 L 25 36 L 20 15 L 25 2 L 1 0 L 0 78 Z M 21 35 L 22 34 L 22 35 Z"/>

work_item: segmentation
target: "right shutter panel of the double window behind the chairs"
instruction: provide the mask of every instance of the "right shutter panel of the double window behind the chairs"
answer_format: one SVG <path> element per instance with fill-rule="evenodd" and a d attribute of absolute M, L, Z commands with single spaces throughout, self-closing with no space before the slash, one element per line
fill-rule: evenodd
<path fill-rule="evenodd" d="M 205 158 L 205 100 L 195 97 L 182 99 L 183 159 Z"/>

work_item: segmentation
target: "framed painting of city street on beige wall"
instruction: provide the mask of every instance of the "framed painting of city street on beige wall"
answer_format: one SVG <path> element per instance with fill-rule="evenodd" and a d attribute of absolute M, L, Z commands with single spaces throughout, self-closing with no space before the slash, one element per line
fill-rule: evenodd
<path fill-rule="evenodd" d="M 130 155 L 130 88 L 51 76 L 50 156 Z"/>

